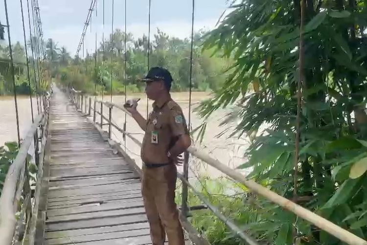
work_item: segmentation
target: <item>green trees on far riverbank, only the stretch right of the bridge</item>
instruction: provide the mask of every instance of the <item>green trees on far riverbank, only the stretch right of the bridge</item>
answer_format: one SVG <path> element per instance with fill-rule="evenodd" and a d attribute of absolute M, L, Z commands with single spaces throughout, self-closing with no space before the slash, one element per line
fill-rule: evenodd
<path fill-rule="evenodd" d="M 55 71 L 58 81 L 64 85 L 72 86 L 77 90 L 94 93 L 104 90 L 114 94 L 125 92 L 125 83 L 128 93 L 144 91 L 144 83 L 138 82 L 147 72 L 147 47 L 146 36 L 134 39 L 132 34 L 127 35 L 126 74 L 124 71 L 124 40 L 125 33 L 120 29 L 114 32 L 113 42 L 111 36 L 105 41 L 105 47 L 100 45 L 96 54 L 87 54 L 83 59 L 76 58 L 72 62 L 59 61 L 52 63 L 50 70 Z M 231 59 L 211 56 L 212 52 L 200 52 L 202 36 L 204 33 L 195 35 L 193 55 L 192 84 L 194 91 L 217 90 L 225 80 L 223 71 L 231 64 Z M 51 45 L 48 45 L 52 47 Z M 48 47 L 47 46 L 47 47 Z M 55 47 L 55 46 L 53 46 Z M 172 91 L 185 91 L 189 87 L 190 69 L 190 40 L 171 38 L 158 29 L 151 43 L 150 67 L 161 66 L 167 68 L 173 76 Z M 104 52 L 103 52 L 104 50 Z M 49 50 L 49 52 L 51 52 Z M 111 64 L 111 56 L 113 63 Z M 51 63 L 49 63 L 51 64 Z"/>

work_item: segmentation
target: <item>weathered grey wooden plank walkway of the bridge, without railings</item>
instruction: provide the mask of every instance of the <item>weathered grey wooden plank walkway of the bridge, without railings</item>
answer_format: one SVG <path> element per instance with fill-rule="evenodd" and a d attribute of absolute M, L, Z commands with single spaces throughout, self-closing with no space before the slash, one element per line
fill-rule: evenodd
<path fill-rule="evenodd" d="M 56 90 L 45 245 L 151 244 L 138 174 Z"/>

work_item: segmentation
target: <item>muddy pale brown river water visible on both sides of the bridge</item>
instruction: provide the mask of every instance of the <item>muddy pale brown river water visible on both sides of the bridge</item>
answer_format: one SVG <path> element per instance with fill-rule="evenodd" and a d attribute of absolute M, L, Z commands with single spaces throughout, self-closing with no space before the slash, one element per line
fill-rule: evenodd
<path fill-rule="evenodd" d="M 184 115 L 186 121 L 188 119 L 189 112 L 189 102 L 188 102 L 188 93 L 172 93 L 172 98 L 180 104 L 184 111 Z M 141 98 L 138 104 L 138 110 L 142 115 L 146 115 L 147 101 L 144 94 L 135 94 L 132 96 L 128 96 L 127 98 Z M 203 92 L 194 92 L 192 93 L 192 103 L 191 108 L 193 111 L 194 108 L 198 106 L 200 101 L 203 101 L 206 98 L 210 98 L 210 95 Z M 105 97 L 105 100 L 110 100 L 110 97 Z M 114 96 L 113 102 L 116 104 L 123 105 L 125 100 L 124 96 Z M 152 101 L 149 101 L 149 110 L 151 107 Z M 35 114 L 37 114 L 37 104 L 36 99 L 34 99 L 33 107 L 35 109 Z M 27 130 L 31 125 L 31 112 L 30 112 L 30 101 L 27 97 L 18 98 L 18 106 L 19 106 L 19 115 L 20 115 L 20 132 L 21 137 L 23 137 Z M 99 111 L 100 105 L 97 104 L 97 110 Z M 108 118 L 108 108 L 104 107 L 104 115 Z M 207 120 L 206 126 L 206 134 L 203 139 L 203 142 L 200 144 L 198 142 L 194 142 L 195 147 L 202 149 L 206 153 L 209 153 L 211 157 L 218 159 L 220 162 L 228 165 L 230 168 L 236 168 L 237 166 L 244 163 L 245 159 L 243 158 L 244 150 L 249 146 L 248 140 L 241 138 L 228 138 L 228 133 L 224 134 L 221 137 L 215 137 L 218 133 L 226 129 L 226 127 L 219 126 L 220 122 L 225 118 L 228 111 L 219 110 L 213 113 L 213 115 Z M 2 145 L 6 141 L 16 141 L 17 140 L 17 129 L 16 129 L 16 121 L 15 121 L 15 109 L 14 109 L 14 99 L 11 97 L 2 97 L 0 98 L 0 145 Z M 125 114 L 117 109 L 113 109 L 112 119 L 115 124 L 123 128 L 123 123 L 125 121 Z M 97 115 L 97 121 L 99 122 L 99 117 Z M 191 128 L 196 128 L 203 122 L 195 112 L 191 113 Z M 106 123 L 106 122 L 105 122 Z M 104 126 L 104 129 L 107 130 L 108 126 Z M 143 134 L 142 130 L 139 128 L 138 124 L 127 116 L 127 131 L 134 134 L 134 136 L 142 141 Z M 230 130 L 229 130 L 230 131 Z M 122 133 L 113 129 L 112 137 L 117 142 L 121 142 L 121 145 L 124 145 Z M 196 135 L 193 136 L 194 140 L 196 139 Z M 127 138 L 126 140 L 126 151 L 129 155 L 141 165 L 141 160 L 139 157 L 140 147 L 135 144 L 132 140 Z M 195 172 L 200 172 L 201 174 L 207 174 L 211 177 L 220 175 L 219 172 L 212 169 L 210 166 L 206 164 L 200 163 L 196 159 L 191 159 L 191 166 Z"/>

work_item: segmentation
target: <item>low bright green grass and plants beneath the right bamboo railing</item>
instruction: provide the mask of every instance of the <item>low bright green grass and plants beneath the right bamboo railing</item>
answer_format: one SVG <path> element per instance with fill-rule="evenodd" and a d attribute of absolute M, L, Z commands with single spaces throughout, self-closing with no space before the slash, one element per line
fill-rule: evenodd
<path fill-rule="evenodd" d="M 213 180 L 208 177 L 200 177 L 195 183 L 195 188 L 213 206 L 219 208 L 225 217 L 234 221 L 244 232 L 256 238 L 261 244 L 292 244 L 292 227 L 295 216 L 263 198 L 254 196 L 243 185 L 227 178 Z M 189 206 L 202 204 L 190 189 L 188 194 Z M 178 193 L 176 202 L 180 203 L 180 201 L 181 195 Z M 215 245 L 246 244 L 209 209 L 191 211 L 190 214 L 192 215 L 191 223 L 205 235 L 209 243 Z M 296 223 L 299 237 L 310 232 L 311 226 L 307 222 L 297 220 Z M 302 240 L 306 239 L 309 238 L 302 238 Z"/>

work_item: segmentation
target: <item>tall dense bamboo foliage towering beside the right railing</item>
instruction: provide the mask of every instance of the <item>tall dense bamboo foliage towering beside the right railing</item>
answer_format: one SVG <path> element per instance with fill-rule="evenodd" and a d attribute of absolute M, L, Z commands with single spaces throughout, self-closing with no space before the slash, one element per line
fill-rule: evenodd
<path fill-rule="evenodd" d="M 298 203 L 366 238 L 366 1 L 306 2 Z M 268 188 L 289 199 L 295 188 L 299 21 L 299 0 L 237 5 L 204 43 L 205 49 L 233 58 L 234 65 L 223 86 L 198 110 L 207 118 L 231 105 L 223 121 L 226 127 L 239 122 L 231 136 L 258 132 L 245 152 L 249 161 L 239 168 L 252 168 L 252 178 L 267 181 Z M 205 126 L 197 129 L 200 137 Z M 259 226 L 273 225 L 267 230 L 273 234 L 269 242 L 292 244 L 288 224 L 295 218 L 282 215 L 283 221 L 269 216 Z M 317 244 L 341 244 L 309 224 L 297 223 L 296 228 Z M 252 231 L 263 234 L 256 227 Z"/>

